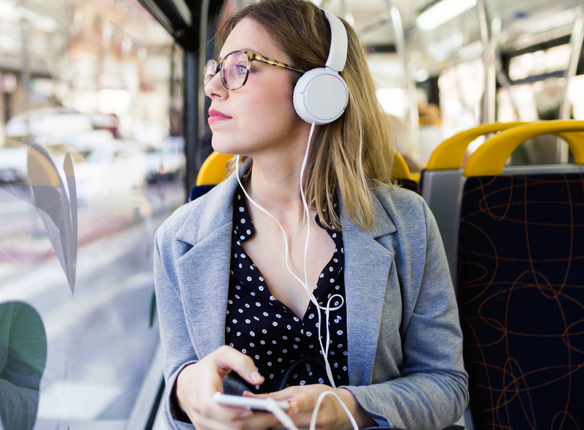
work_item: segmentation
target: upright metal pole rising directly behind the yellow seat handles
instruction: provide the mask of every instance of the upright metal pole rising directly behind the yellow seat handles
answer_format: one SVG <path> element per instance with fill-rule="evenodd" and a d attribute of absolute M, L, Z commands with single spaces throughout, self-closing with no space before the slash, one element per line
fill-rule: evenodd
<path fill-rule="evenodd" d="M 489 26 L 485 0 L 477 1 L 477 12 L 483 47 L 482 59 L 485 77 L 485 88 L 482 95 L 481 122 L 492 123 L 495 122 L 495 44 L 493 43 L 491 35 L 491 26 Z"/>

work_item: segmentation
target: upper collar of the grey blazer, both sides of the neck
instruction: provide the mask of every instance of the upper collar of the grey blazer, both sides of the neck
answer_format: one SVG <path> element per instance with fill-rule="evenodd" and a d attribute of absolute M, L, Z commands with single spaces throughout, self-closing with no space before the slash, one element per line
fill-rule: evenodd
<path fill-rule="evenodd" d="M 248 164 L 239 164 L 239 178 L 243 178 L 249 169 Z M 209 192 L 193 203 L 193 210 L 175 234 L 175 238 L 190 245 L 196 245 L 218 228 L 231 223 L 235 190 L 239 186 L 235 171 L 223 182 L 214 186 Z M 375 194 L 374 194 L 375 195 Z M 350 217 L 345 218 L 342 196 L 337 189 L 338 202 L 343 231 L 346 228 L 359 228 Z M 365 230 L 373 238 L 397 231 L 394 222 L 388 216 L 377 196 L 373 199 L 374 222 L 371 230 Z"/>

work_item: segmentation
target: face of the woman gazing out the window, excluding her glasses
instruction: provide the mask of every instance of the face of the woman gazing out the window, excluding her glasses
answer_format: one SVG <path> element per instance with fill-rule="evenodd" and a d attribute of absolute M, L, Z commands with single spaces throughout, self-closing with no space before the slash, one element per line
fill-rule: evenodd
<path fill-rule="evenodd" d="M 221 49 L 220 59 L 235 50 L 250 50 L 263 57 L 290 64 L 270 39 L 262 25 L 244 18 L 235 25 Z M 225 89 L 217 73 L 205 86 L 211 108 L 231 119 L 210 123 L 213 149 L 222 154 L 254 157 L 274 145 L 286 144 L 300 136 L 305 123 L 294 110 L 290 73 L 283 67 L 252 61 L 248 80 L 242 88 Z"/>

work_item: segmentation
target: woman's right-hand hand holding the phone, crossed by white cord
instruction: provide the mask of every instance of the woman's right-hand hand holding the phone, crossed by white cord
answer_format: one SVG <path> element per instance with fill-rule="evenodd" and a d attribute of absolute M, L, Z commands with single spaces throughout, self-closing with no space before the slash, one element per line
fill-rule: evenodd
<path fill-rule="evenodd" d="M 333 389 L 325 384 L 291 386 L 287 389 L 269 394 L 253 394 L 249 391 L 244 391 L 244 396 L 263 398 L 272 397 L 276 400 L 288 400 L 288 403 L 290 403 L 290 410 L 288 410 L 287 413 L 294 421 L 294 424 L 296 424 L 299 429 L 308 429 L 310 428 L 312 410 L 314 410 L 318 396 L 323 391 L 333 391 L 340 397 L 340 400 L 345 403 L 346 407 L 351 412 L 351 415 L 353 415 L 359 428 L 377 425 L 374 419 L 363 410 L 359 403 L 357 403 L 356 398 L 354 398 L 349 390 L 343 388 Z M 283 428 L 284 427 L 280 423 L 270 427 L 270 429 L 278 430 Z M 350 430 L 353 429 L 353 425 L 336 398 L 333 396 L 326 396 L 318 408 L 316 428 L 319 430 Z"/>

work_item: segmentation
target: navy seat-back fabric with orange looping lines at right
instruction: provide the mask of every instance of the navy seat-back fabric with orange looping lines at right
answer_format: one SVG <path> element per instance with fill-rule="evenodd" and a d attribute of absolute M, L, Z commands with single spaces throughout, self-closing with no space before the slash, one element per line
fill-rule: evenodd
<path fill-rule="evenodd" d="M 460 217 L 474 428 L 583 428 L 584 175 L 468 178 Z"/>

